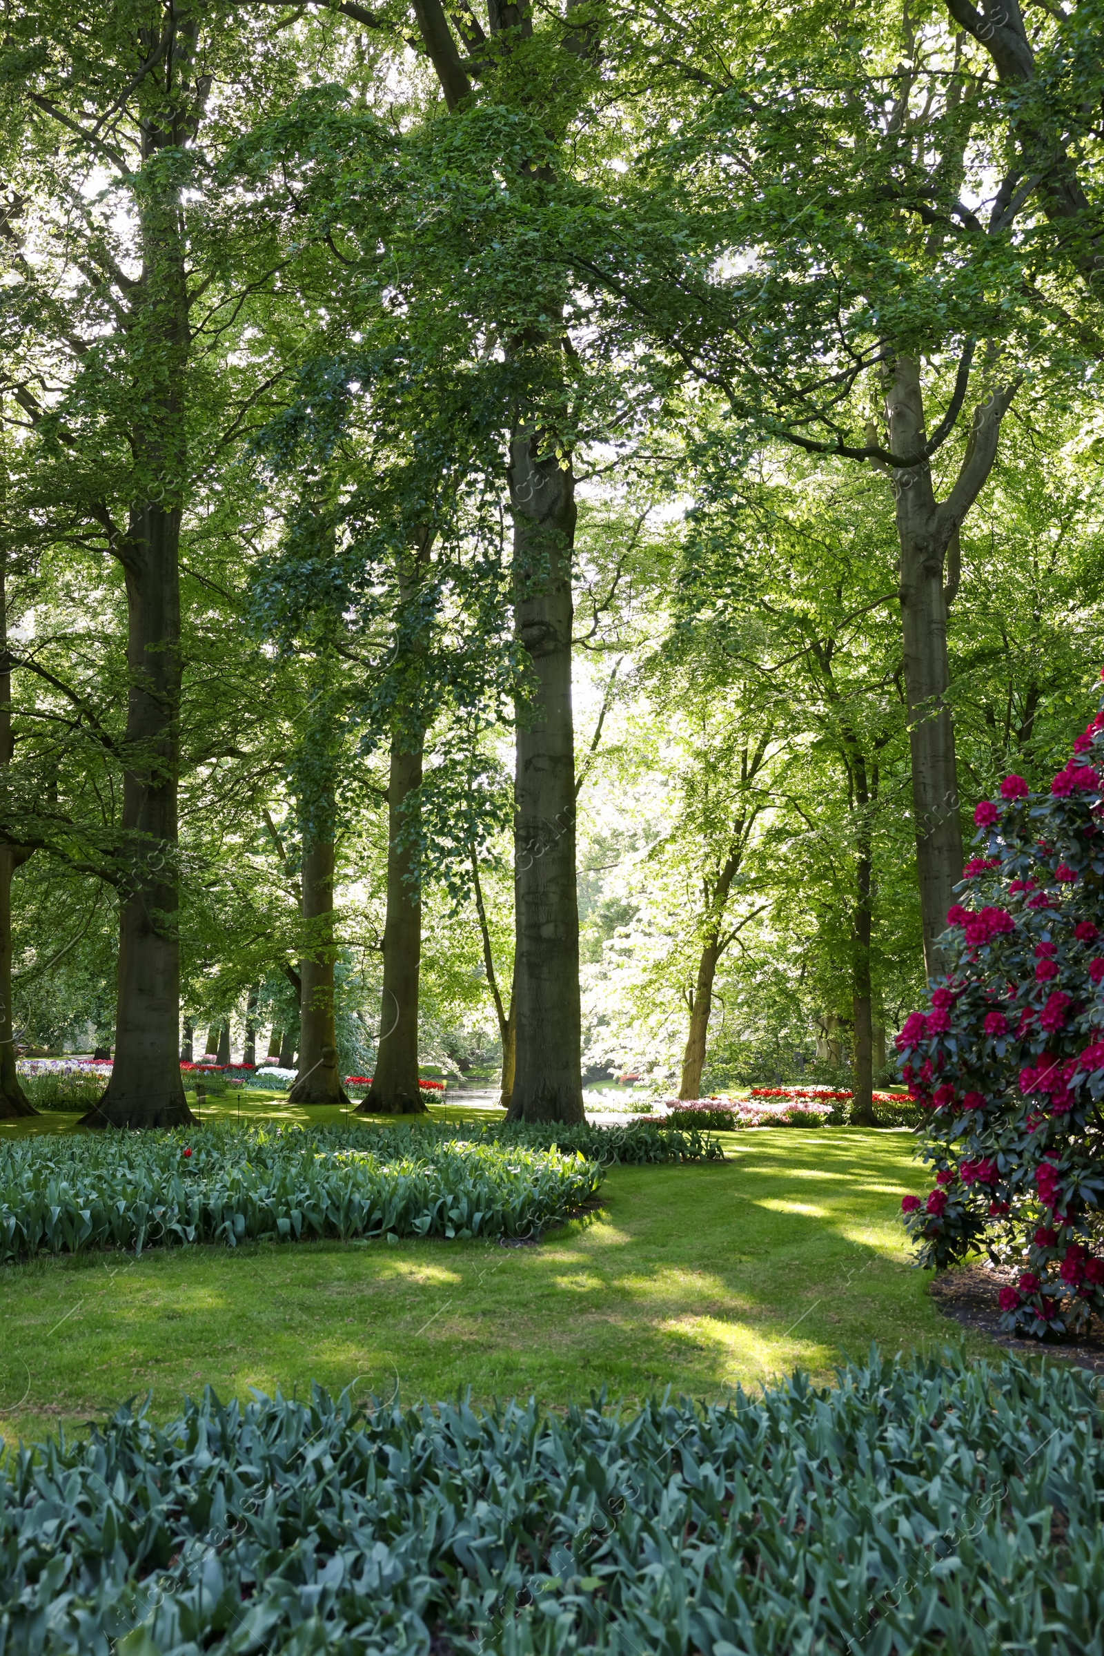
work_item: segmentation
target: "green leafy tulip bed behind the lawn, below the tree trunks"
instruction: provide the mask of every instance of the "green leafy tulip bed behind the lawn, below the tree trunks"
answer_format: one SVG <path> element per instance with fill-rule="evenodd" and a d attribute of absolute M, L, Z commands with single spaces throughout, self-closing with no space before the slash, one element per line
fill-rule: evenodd
<path fill-rule="evenodd" d="M 602 1179 L 568 1149 L 450 1138 L 205 1126 L 0 1143 L 0 1262 L 262 1237 L 523 1235 Z"/>

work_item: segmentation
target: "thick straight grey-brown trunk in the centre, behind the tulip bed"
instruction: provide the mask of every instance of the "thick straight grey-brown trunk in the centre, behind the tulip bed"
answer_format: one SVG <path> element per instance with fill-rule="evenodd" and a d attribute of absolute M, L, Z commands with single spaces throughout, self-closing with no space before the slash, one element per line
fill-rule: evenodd
<path fill-rule="evenodd" d="M 574 874 L 571 551 L 574 479 L 530 427 L 510 444 L 515 631 L 536 692 L 518 709 L 510 1119 L 583 1121 L 579 904 Z"/>

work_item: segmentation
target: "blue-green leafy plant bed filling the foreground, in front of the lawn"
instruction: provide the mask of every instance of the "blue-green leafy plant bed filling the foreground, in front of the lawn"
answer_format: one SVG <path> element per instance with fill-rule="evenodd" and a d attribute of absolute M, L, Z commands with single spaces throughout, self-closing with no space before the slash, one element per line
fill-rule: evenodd
<path fill-rule="evenodd" d="M 5 1656 L 1099 1651 L 1087 1376 L 882 1361 L 728 1406 L 205 1393 L 0 1471 Z"/>

